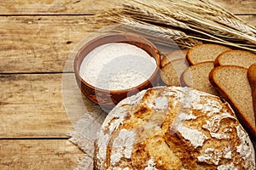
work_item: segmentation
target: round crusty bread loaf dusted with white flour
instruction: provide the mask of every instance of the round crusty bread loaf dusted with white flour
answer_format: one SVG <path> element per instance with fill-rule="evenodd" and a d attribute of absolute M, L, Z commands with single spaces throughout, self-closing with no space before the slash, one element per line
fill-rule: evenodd
<path fill-rule="evenodd" d="M 108 114 L 94 169 L 255 169 L 255 152 L 230 105 L 193 88 L 149 88 Z"/>

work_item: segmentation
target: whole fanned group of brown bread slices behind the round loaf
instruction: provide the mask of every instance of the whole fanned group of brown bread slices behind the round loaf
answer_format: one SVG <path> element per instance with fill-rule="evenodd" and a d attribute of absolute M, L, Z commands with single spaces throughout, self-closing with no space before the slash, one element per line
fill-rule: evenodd
<path fill-rule="evenodd" d="M 162 82 L 218 95 L 229 102 L 247 133 L 256 140 L 256 54 L 217 44 L 196 45 L 186 52 L 186 68 L 178 70 L 174 60 L 164 61 Z M 178 74 L 173 78 L 175 71 Z M 173 83 L 174 79 L 179 83 Z"/>

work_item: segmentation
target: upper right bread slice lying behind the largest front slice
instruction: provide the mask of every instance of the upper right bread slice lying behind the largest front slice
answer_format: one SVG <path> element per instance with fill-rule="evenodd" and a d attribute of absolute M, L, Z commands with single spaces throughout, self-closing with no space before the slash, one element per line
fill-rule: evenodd
<path fill-rule="evenodd" d="M 243 50 L 230 50 L 219 54 L 214 61 L 214 65 L 237 65 L 249 68 L 250 65 L 256 63 L 256 54 Z"/>

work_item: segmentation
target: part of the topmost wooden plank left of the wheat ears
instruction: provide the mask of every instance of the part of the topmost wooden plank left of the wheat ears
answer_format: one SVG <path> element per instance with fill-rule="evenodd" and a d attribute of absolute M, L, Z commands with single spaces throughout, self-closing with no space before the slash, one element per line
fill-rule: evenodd
<path fill-rule="evenodd" d="M 117 3 L 118 0 L 1 0 L 0 14 L 96 14 L 103 9 L 115 7 Z"/>

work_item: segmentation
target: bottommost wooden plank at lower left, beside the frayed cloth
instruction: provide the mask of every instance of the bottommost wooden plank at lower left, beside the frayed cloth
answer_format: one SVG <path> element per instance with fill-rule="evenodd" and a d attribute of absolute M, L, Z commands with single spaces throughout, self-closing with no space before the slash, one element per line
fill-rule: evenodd
<path fill-rule="evenodd" d="M 84 155 L 66 140 L 0 140 L 0 169 L 74 169 Z"/>

